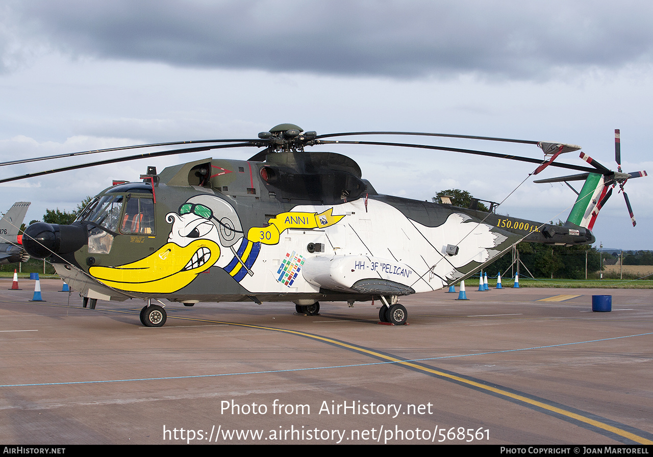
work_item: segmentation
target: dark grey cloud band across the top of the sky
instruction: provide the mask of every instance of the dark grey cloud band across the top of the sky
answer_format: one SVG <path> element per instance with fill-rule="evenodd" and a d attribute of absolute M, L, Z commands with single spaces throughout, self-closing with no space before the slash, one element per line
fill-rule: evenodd
<path fill-rule="evenodd" d="M 73 56 L 179 67 L 413 78 L 545 79 L 652 60 L 643 2 L 11 3 L 23 39 Z M 5 19 L 7 20 L 7 19 Z"/>

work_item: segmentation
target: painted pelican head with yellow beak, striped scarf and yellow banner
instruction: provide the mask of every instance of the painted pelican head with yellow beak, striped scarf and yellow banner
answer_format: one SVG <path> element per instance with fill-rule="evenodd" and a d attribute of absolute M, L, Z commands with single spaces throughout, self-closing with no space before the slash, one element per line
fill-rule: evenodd
<path fill-rule="evenodd" d="M 261 245 L 278 244 L 280 234 L 289 228 L 312 230 L 334 225 L 344 216 L 332 215 L 332 211 L 280 213 L 269 219 L 266 227 L 245 232 L 231 204 L 211 195 L 196 195 L 178 212 L 166 215 L 172 224 L 168 242 L 155 253 L 129 264 L 91 266 L 89 274 L 109 287 L 140 293 L 179 291 L 214 265 L 240 282 L 254 275 L 252 267 Z M 233 254 L 231 261 L 226 248 Z"/>

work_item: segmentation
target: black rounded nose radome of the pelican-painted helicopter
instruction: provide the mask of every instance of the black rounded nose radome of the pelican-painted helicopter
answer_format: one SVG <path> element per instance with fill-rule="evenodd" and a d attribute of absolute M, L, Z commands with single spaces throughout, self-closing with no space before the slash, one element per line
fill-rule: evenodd
<path fill-rule="evenodd" d="M 45 259 L 53 254 L 68 254 L 88 243 L 88 232 L 81 225 L 36 222 L 25 229 L 23 247 L 31 257 Z"/>

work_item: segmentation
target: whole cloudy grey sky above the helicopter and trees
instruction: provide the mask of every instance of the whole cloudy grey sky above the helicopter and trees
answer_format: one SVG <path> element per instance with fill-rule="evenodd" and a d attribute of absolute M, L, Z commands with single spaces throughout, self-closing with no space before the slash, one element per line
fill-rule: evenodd
<path fill-rule="evenodd" d="M 616 168 L 613 136 L 621 129 L 624 169 L 653 172 L 653 5 L 643 1 L 5 0 L 0 57 L 0 161 L 255 138 L 291 122 L 319 134 L 425 131 L 567 142 L 609 168 Z M 430 144 L 541 157 L 528 145 Z M 537 221 L 566 219 L 575 200 L 562 183 L 526 179 L 534 168 L 526 164 L 322 148 L 353 157 L 380 193 L 430 200 L 457 187 L 486 200 L 510 195 L 500 212 Z M 147 165 L 161 170 L 209 155 L 1 185 L 1 210 L 28 200 L 27 221 L 41 219 L 46 208 L 74 210 L 113 179 L 137 180 Z M 583 164 L 577 153 L 563 159 Z M 69 163 L 3 166 L 0 177 Z M 560 174 L 569 172 L 549 168 L 540 176 Z M 597 241 L 653 249 L 653 178 L 626 187 L 637 227 L 614 192 L 597 220 Z"/>

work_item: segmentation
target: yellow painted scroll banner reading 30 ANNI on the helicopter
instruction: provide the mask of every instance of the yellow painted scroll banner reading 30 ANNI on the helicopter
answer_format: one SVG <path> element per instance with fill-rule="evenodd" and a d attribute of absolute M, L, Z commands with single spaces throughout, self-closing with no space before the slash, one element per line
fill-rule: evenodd
<path fill-rule="evenodd" d="M 280 213 L 270 219 L 268 227 L 252 227 L 247 232 L 247 240 L 251 242 L 261 242 L 263 244 L 277 244 L 279 236 L 286 228 L 324 228 L 334 225 L 340 221 L 342 216 L 332 215 L 333 208 L 329 208 L 322 213 L 302 213 L 291 211 Z"/>

